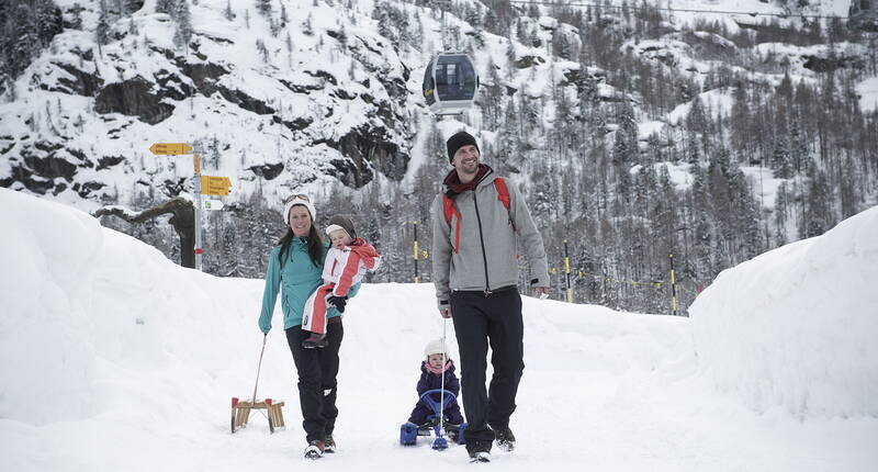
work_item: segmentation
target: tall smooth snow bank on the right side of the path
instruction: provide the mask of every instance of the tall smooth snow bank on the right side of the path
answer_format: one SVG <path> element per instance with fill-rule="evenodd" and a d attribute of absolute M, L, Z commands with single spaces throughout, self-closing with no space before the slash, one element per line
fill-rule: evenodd
<path fill-rule="evenodd" d="M 700 366 L 757 412 L 878 416 L 878 207 L 725 270 L 689 307 Z"/>

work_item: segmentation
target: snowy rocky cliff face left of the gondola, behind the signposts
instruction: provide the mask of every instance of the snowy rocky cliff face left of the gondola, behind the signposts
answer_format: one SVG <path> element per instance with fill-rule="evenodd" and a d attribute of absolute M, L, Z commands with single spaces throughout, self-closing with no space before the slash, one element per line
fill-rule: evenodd
<path fill-rule="evenodd" d="M 147 11 L 151 3 L 131 16 L 110 12 L 110 42 L 99 46 L 99 5 L 86 2 L 82 30 L 55 36 L 18 78 L 14 101 L 0 109 L 0 186 L 92 200 L 185 189 L 189 166 L 149 155 L 154 142 L 201 144 L 203 172 L 244 190 L 280 194 L 336 179 L 360 188 L 376 170 L 403 178 L 410 71 L 363 12 L 353 13 L 363 26 L 350 27 L 347 14 L 326 9 L 315 20 L 313 9 L 281 2 L 290 10 L 273 36 L 278 12 L 269 20 L 241 4 L 229 20 L 192 5 L 183 46 L 171 41 L 179 22 Z"/>

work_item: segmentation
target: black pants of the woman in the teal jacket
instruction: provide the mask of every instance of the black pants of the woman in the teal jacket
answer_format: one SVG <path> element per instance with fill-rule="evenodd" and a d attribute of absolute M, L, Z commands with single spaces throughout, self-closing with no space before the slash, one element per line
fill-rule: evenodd
<path fill-rule="evenodd" d="M 303 348 L 302 341 L 309 335 L 302 326 L 286 329 L 286 342 L 299 371 L 299 403 L 304 418 L 302 427 L 308 442 L 324 440 L 326 435 L 333 434 L 336 426 L 338 349 L 341 347 L 341 338 L 345 337 L 345 327 L 340 318 L 329 318 L 326 325 L 329 345 L 324 348 Z"/>

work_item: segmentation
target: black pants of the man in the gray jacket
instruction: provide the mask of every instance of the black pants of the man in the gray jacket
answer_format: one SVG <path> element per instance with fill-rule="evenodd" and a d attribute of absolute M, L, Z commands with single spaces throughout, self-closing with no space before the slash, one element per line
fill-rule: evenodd
<path fill-rule="evenodd" d="M 518 290 L 451 292 L 451 315 L 458 337 L 466 448 L 491 449 L 493 428 L 509 426 L 518 382 L 525 369 L 525 327 Z M 485 391 L 487 347 L 494 377 Z M 488 427 L 491 425 L 491 427 Z"/>

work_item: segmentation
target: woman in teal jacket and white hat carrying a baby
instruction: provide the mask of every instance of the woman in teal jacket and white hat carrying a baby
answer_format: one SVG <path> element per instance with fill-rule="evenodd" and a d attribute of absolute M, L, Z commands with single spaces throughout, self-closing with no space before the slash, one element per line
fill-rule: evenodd
<path fill-rule="evenodd" d="M 302 347 L 302 341 L 308 335 L 308 331 L 302 330 L 302 312 L 308 296 L 323 283 L 320 274 L 329 248 L 314 226 L 315 216 L 316 211 L 307 195 L 292 195 L 284 201 L 283 217 L 288 229 L 269 258 L 262 313 L 259 316 L 259 328 L 268 334 L 278 290 L 281 289 L 283 329 L 299 372 L 299 401 L 304 418 L 302 426 L 308 442 L 305 457 L 311 459 L 318 459 L 324 452 L 335 452 L 333 429 L 338 416 L 336 375 L 338 350 L 345 335 L 341 316 L 333 307 L 326 315 L 328 345 L 319 349 Z M 353 285 L 348 296 L 356 295 L 359 288 L 359 284 Z"/>

